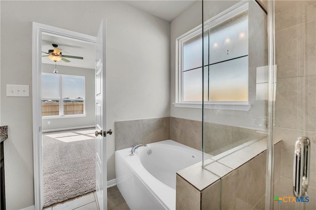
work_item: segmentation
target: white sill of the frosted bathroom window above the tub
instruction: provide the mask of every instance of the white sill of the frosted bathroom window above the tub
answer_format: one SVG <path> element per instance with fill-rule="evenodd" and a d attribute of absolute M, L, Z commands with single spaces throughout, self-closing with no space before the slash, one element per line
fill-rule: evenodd
<path fill-rule="evenodd" d="M 182 108 L 202 108 L 201 103 L 172 103 L 175 107 Z M 236 111 L 249 111 L 251 105 L 249 104 L 204 104 L 204 108 L 220 109 L 220 110 L 236 110 Z"/>

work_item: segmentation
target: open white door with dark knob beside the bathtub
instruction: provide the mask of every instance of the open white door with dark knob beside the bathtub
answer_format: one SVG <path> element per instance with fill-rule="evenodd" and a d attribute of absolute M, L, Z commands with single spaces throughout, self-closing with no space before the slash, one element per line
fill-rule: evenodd
<path fill-rule="evenodd" d="M 107 209 L 106 144 L 106 22 L 101 21 L 95 47 L 96 194 L 100 210 Z"/>

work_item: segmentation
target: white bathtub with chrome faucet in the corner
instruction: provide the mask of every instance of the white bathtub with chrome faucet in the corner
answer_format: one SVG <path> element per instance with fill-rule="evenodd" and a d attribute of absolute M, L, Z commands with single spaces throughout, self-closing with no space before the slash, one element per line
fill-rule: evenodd
<path fill-rule="evenodd" d="M 176 172 L 202 161 L 202 152 L 173 140 L 115 152 L 116 181 L 131 210 L 175 210 Z M 151 150 L 151 154 L 147 154 Z"/>

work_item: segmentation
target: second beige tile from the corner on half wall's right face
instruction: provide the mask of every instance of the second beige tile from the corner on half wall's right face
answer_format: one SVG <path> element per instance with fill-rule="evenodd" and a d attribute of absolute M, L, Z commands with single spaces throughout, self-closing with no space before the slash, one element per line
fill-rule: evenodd
<path fill-rule="evenodd" d="M 222 210 L 247 210 L 252 208 L 247 203 L 248 168 L 248 164 L 244 164 L 222 178 Z"/>

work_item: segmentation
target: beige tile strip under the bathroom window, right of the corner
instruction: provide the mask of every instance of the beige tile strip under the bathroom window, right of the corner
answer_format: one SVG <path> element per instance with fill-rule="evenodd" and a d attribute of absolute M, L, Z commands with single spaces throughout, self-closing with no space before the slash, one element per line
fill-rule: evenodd
<path fill-rule="evenodd" d="M 266 135 L 256 130 L 234 126 L 204 123 L 205 152 L 217 155 L 249 140 L 259 140 Z M 202 148 L 202 123 L 195 120 L 170 117 L 170 138 L 195 149 Z"/>

